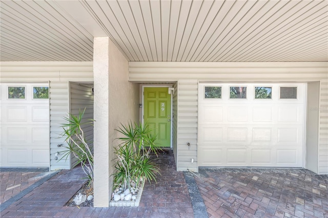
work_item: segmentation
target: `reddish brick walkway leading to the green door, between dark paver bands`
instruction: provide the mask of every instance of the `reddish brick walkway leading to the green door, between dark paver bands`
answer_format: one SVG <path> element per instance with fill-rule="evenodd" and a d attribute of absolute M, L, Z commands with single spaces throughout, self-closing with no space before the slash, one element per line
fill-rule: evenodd
<path fill-rule="evenodd" d="M 85 181 L 82 170 L 61 170 L 1 212 L 1 217 L 194 217 L 183 172 L 172 150 L 159 155 L 157 184 L 145 184 L 139 207 L 64 207 Z"/>

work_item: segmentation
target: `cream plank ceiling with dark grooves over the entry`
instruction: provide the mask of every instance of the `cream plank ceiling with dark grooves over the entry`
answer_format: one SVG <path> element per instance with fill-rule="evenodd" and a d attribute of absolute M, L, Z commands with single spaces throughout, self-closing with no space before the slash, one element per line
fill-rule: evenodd
<path fill-rule="evenodd" d="M 1 1 L 1 61 L 328 61 L 328 1 Z"/>

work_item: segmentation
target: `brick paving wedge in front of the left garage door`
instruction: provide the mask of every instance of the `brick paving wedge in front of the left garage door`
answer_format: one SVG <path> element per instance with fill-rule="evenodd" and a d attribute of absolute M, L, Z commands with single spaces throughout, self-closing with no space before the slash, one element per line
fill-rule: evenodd
<path fill-rule="evenodd" d="M 0 204 L 42 179 L 43 172 L 49 168 L 1 168 L 0 169 Z"/>

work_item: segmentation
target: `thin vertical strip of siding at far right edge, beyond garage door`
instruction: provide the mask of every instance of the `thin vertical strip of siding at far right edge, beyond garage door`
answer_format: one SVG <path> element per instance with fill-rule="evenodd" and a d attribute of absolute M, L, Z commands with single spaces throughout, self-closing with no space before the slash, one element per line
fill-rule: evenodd
<path fill-rule="evenodd" d="M 320 84 L 319 172 L 328 174 L 328 79 Z"/>

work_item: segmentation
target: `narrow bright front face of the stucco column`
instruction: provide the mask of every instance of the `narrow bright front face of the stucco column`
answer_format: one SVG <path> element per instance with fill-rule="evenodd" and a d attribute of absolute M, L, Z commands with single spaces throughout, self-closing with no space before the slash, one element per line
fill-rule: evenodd
<path fill-rule="evenodd" d="M 109 207 L 109 38 L 93 41 L 94 207 Z"/>

